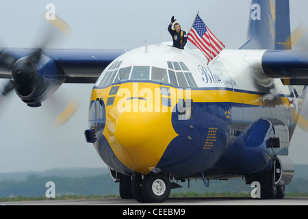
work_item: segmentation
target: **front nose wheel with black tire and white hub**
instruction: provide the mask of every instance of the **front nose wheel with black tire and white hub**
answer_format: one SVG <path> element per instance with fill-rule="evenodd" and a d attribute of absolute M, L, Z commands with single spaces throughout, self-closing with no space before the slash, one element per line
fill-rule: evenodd
<path fill-rule="evenodd" d="M 162 174 L 147 175 L 142 181 L 141 190 L 146 201 L 163 203 L 170 195 L 170 181 Z"/>

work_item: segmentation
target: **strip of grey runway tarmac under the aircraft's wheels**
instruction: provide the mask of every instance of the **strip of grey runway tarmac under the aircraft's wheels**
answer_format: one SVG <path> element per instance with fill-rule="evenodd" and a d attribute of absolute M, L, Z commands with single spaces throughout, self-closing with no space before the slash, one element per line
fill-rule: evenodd
<path fill-rule="evenodd" d="M 138 203 L 134 199 L 77 199 L 0 202 L 0 205 L 308 205 L 308 197 L 264 200 L 258 198 L 168 198 L 164 203 Z"/>

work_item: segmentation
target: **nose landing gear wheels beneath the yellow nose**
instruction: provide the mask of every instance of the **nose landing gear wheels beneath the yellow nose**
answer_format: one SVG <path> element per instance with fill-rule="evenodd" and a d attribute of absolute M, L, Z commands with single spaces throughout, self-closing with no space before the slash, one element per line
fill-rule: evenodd
<path fill-rule="evenodd" d="M 170 180 L 166 175 L 120 176 L 120 197 L 135 198 L 140 203 L 163 203 L 169 197 Z"/>

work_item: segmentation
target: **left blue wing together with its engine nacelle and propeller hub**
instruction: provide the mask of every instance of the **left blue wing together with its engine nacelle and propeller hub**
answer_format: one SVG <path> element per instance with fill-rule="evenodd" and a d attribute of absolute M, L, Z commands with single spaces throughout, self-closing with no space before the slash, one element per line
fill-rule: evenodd
<path fill-rule="evenodd" d="M 12 90 L 30 107 L 39 107 L 62 83 L 95 83 L 124 50 L 3 49 L 0 78 L 10 79 L 0 97 Z"/>

